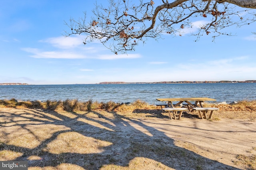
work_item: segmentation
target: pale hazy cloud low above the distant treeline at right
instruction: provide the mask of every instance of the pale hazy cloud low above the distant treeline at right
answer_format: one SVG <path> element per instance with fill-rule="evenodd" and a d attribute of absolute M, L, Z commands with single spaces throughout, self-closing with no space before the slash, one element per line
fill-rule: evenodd
<path fill-rule="evenodd" d="M 176 71 L 178 70 L 177 75 L 182 76 L 174 76 L 176 80 L 180 80 L 181 78 L 191 81 L 247 80 L 253 77 L 254 72 L 256 72 L 256 67 L 253 64 L 243 64 L 247 63 L 248 59 L 249 57 L 242 56 L 205 62 L 194 61 L 192 63 L 180 63 L 172 68 L 165 67 L 162 69 L 166 69 L 165 72 L 173 72 L 173 75 L 176 75 Z"/>

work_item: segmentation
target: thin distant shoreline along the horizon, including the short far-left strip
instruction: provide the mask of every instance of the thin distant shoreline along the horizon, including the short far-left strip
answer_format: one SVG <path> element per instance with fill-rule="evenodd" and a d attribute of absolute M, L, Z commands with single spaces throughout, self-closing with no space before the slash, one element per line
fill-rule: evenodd
<path fill-rule="evenodd" d="M 256 83 L 256 80 L 245 80 L 245 81 L 164 81 L 164 82 L 100 82 L 92 84 L 200 84 L 200 83 Z M 86 83 L 84 83 L 86 84 Z M 32 85 L 27 83 L 0 83 L 1 85 Z M 54 85 L 54 84 L 52 84 Z"/>

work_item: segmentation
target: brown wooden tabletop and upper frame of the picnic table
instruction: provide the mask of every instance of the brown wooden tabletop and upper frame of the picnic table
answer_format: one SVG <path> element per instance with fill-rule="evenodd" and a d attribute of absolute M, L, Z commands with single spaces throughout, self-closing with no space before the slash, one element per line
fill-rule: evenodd
<path fill-rule="evenodd" d="M 168 102 L 167 103 L 168 107 L 176 107 L 182 104 L 183 102 L 186 102 L 188 105 L 192 107 L 198 107 L 198 104 L 200 107 L 203 107 L 202 102 L 204 101 L 216 101 L 215 99 L 212 99 L 212 98 L 158 98 L 156 100 L 160 102 Z M 191 103 L 193 101 L 195 102 L 194 104 Z M 173 105 L 172 102 L 178 102 L 178 103 Z"/>

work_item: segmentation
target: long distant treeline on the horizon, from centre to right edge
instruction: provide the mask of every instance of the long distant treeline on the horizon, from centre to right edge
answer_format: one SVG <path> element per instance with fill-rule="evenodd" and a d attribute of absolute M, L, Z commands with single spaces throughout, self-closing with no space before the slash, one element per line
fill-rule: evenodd
<path fill-rule="evenodd" d="M 256 80 L 246 81 L 166 81 L 166 82 L 100 82 L 98 84 L 172 84 L 172 83 L 256 83 Z"/>

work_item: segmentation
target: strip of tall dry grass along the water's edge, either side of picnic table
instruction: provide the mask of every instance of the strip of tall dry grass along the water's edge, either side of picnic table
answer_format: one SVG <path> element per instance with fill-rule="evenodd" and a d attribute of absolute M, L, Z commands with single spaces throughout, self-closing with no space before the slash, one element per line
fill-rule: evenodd
<path fill-rule="evenodd" d="M 16 108 L 30 108 L 30 109 L 49 109 L 49 110 L 64 110 L 64 111 L 92 111 L 92 110 L 105 110 L 105 111 L 119 111 L 127 112 L 136 109 L 148 110 L 159 109 L 155 105 L 149 105 L 144 101 L 137 100 L 131 104 L 119 104 L 115 102 L 98 103 L 89 100 L 87 102 L 79 102 L 78 100 L 64 100 L 64 101 L 20 101 L 15 99 L 0 100 L 0 107 L 16 107 Z M 256 100 L 253 101 L 240 101 L 237 104 L 213 104 L 204 103 L 204 107 L 218 107 L 220 111 L 256 111 Z"/>

